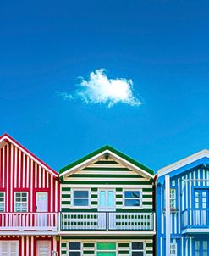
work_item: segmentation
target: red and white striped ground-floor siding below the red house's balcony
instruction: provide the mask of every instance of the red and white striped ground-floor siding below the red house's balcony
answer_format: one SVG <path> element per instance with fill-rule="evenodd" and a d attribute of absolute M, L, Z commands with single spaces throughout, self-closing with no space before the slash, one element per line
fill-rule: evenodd
<path fill-rule="evenodd" d="M 59 252 L 59 242 L 51 236 L 0 236 L 1 241 L 19 242 L 19 256 L 36 256 L 37 242 L 51 242 L 51 249 Z"/>

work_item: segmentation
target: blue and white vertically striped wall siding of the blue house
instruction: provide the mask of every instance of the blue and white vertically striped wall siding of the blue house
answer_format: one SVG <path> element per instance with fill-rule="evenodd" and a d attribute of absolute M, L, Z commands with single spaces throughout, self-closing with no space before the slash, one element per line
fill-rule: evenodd
<path fill-rule="evenodd" d="M 199 166 L 199 168 L 194 168 L 188 171 L 185 171 L 181 175 L 174 176 L 170 179 L 170 188 L 176 189 L 176 208 L 178 211 L 176 213 L 170 214 L 170 222 L 171 222 L 171 242 L 177 243 L 178 246 L 178 253 L 180 255 L 193 255 L 193 247 L 194 247 L 194 235 L 187 234 L 187 239 L 184 239 L 182 235 L 183 228 L 183 214 L 182 211 L 184 209 L 193 209 L 192 203 L 194 202 L 194 188 L 206 188 L 209 187 L 209 181 L 190 181 L 184 182 L 183 180 L 209 180 L 209 169 L 207 167 Z M 158 213 L 161 216 L 159 221 L 159 226 L 157 228 L 157 242 L 160 244 L 157 247 L 158 255 L 166 256 L 165 254 L 165 233 L 166 233 L 166 226 L 165 226 L 165 214 L 163 213 L 163 201 L 165 197 L 164 186 L 161 188 L 161 198 L 157 198 L 159 205 Z M 159 210 L 160 209 L 160 210 Z M 161 213 L 161 215 L 160 215 Z M 206 233 L 207 234 L 207 233 Z M 198 238 L 200 235 L 196 235 Z"/>

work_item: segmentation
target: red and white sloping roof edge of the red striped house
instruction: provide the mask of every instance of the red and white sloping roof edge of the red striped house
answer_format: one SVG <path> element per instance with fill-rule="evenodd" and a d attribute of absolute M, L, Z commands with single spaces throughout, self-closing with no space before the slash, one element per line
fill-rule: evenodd
<path fill-rule="evenodd" d="M 42 168 L 47 170 L 50 174 L 58 177 L 58 173 L 55 170 L 52 170 L 47 164 L 45 164 L 41 159 L 38 159 L 34 153 L 31 153 L 27 148 L 23 147 L 19 142 L 15 141 L 13 137 L 9 136 L 8 134 L 4 133 L 0 136 L 0 148 L 3 147 L 7 143 L 12 143 L 15 147 L 18 147 L 19 150 L 24 152 L 30 159 L 33 159 L 37 164 L 40 164 Z"/>

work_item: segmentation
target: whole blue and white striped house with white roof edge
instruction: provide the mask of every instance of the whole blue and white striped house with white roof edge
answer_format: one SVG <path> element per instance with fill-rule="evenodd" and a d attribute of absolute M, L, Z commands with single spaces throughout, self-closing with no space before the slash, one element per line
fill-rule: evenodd
<path fill-rule="evenodd" d="M 209 150 L 158 171 L 157 256 L 209 256 Z"/>

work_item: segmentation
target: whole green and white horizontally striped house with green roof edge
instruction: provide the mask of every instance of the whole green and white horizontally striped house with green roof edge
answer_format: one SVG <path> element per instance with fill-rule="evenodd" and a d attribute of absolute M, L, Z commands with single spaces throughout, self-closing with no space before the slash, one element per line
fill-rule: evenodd
<path fill-rule="evenodd" d="M 61 255 L 154 255 L 154 173 L 105 146 L 60 170 Z"/>

